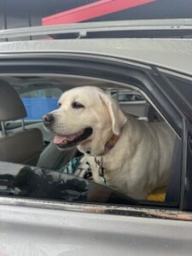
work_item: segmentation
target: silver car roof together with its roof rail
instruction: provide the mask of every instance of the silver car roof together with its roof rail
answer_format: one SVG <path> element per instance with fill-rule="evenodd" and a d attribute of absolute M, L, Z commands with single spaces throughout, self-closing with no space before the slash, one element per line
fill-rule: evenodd
<path fill-rule="evenodd" d="M 84 38 L 89 32 L 118 33 L 148 32 L 152 38 Z M 166 32 L 165 38 L 153 38 L 155 31 Z M 71 53 L 105 55 L 121 61 L 137 61 L 192 75 L 192 39 L 167 38 L 167 32 L 192 34 L 192 19 L 181 20 L 120 20 L 88 22 L 61 26 L 37 26 L 0 31 L 0 39 L 17 38 L 15 42 L 0 43 L 0 54 L 13 53 Z M 56 39 L 55 35 L 78 34 L 75 39 Z M 129 33 L 128 33 L 129 34 Z M 25 37 L 52 35 L 44 40 L 27 41 Z M 96 34 L 95 34 L 96 35 Z M 186 34 L 187 35 L 187 34 Z M 23 38 L 24 37 L 24 38 Z"/>

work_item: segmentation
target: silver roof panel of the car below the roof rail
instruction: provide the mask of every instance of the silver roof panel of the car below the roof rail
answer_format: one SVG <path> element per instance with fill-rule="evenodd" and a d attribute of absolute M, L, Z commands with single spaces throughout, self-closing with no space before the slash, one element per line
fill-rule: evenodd
<path fill-rule="evenodd" d="M 0 55 L 13 53 L 71 53 L 105 55 L 121 61 L 164 67 L 192 74 L 192 39 L 104 38 L 41 40 L 0 44 Z"/>

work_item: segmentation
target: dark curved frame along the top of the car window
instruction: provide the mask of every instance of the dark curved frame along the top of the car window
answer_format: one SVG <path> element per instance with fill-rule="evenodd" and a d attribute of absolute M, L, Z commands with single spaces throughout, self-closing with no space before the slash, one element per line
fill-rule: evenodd
<path fill-rule="evenodd" d="M 9 61 L 9 59 L 11 61 Z M 184 131 L 186 119 L 183 113 L 178 112 L 174 104 L 172 104 L 172 95 L 167 96 L 166 91 L 170 90 L 170 86 L 166 79 L 153 68 L 143 67 L 137 63 L 111 58 L 108 56 L 98 55 L 73 55 L 73 54 L 9 54 L 2 57 L 0 55 L 1 74 L 8 75 L 13 73 L 20 74 L 67 74 L 91 77 L 96 79 L 105 79 L 113 81 L 115 84 L 121 84 L 130 88 L 127 81 L 130 79 L 131 84 L 136 86 L 138 90 L 142 90 L 144 96 L 152 102 L 155 108 L 164 113 L 165 119 L 169 120 L 177 135 L 182 139 L 186 137 Z M 32 70 L 31 70 L 32 68 Z M 37 72 L 35 72 L 37 70 Z M 152 76 L 155 75 L 155 79 Z M 164 90 L 162 90 L 162 88 Z M 161 104 L 160 102 L 165 104 Z M 183 139 L 183 147 L 186 141 Z M 183 150 L 182 154 L 186 154 Z M 184 157 L 183 157 L 184 159 Z M 184 166 L 183 166 L 184 168 Z M 185 170 L 181 170 L 185 172 Z M 158 205 L 158 204 L 157 204 Z M 145 206 L 153 206 L 152 203 L 146 203 Z M 154 204 L 155 206 L 155 204 Z M 182 209 L 180 204 L 177 206 Z"/>

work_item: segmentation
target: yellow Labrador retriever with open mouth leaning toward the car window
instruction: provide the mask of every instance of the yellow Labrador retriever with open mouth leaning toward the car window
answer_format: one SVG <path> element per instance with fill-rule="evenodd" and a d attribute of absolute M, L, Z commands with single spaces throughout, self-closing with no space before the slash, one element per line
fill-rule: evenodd
<path fill-rule="evenodd" d="M 58 148 L 78 147 L 94 180 L 135 199 L 166 187 L 174 133 L 164 122 L 125 116 L 106 92 L 92 86 L 65 92 L 60 108 L 44 116 Z"/>

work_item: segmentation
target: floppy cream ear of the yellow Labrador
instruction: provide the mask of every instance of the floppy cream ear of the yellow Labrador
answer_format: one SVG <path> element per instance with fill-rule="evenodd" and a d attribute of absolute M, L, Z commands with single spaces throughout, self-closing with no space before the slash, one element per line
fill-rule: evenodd
<path fill-rule="evenodd" d="M 120 134 L 120 130 L 125 125 L 125 114 L 120 110 L 118 102 L 116 102 L 112 96 L 107 93 L 100 93 L 102 102 L 107 106 L 110 118 L 112 121 L 113 133 L 117 136 Z"/>

